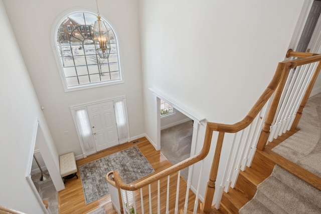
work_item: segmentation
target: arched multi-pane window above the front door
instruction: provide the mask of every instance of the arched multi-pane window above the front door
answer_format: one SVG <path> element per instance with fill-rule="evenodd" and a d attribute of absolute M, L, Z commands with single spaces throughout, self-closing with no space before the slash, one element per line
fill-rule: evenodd
<path fill-rule="evenodd" d="M 111 50 L 107 59 L 100 58 L 92 37 L 96 14 L 73 12 L 60 19 L 54 43 L 65 91 L 122 82 L 117 38 L 101 19 L 109 31 Z"/>

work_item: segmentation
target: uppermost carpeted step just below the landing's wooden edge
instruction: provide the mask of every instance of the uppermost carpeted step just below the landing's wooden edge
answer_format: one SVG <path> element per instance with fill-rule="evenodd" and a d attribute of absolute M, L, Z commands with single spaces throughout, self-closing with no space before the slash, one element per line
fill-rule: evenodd
<path fill-rule="evenodd" d="M 271 174 L 273 177 L 277 178 L 294 191 L 299 192 L 310 203 L 321 208 L 321 193 L 317 188 L 278 165 L 275 165 L 275 168 L 276 170 L 273 170 Z"/>

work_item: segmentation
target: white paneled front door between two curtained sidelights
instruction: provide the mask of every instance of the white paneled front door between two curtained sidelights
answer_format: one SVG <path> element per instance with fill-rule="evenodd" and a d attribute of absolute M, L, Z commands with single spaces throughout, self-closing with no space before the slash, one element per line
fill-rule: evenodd
<path fill-rule="evenodd" d="M 113 101 L 87 106 L 96 150 L 118 145 L 118 134 Z"/>

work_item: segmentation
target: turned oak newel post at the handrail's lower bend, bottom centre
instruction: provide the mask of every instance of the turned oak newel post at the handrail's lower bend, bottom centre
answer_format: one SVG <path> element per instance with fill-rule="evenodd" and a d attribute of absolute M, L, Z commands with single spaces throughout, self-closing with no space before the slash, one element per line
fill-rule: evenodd
<path fill-rule="evenodd" d="M 209 128 L 207 128 L 209 129 Z M 213 132 L 212 130 L 210 130 Z M 208 130 L 206 130 L 208 132 Z M 211 208 L 212 208 L 212 201 L 214 197 L 214 191 L 215 191 L 215 181 L 217 177 L 217 171 L 219 168 L 219 161 L 221 157 L 221 151 L 222 151 L 222 145 L 223 145 L 223 139 L 224 139 L 224 132 L 219 132 L 219 136 L 217 138 L 217 143 L 216 143 L 216 148 L 215 148 L 215 153 L 213 157 L 213 162 L 211 166 L 211 171 L 210 171 L 210 177 L 209 181 L 206 186 L 206 192 L 205 192 L 205 197 L 204 197 L 204 206 L 203 206 L 203 212 L 204 213 L 210 213 Z M 211 139 L 210 139 L 211 140 Z"/>

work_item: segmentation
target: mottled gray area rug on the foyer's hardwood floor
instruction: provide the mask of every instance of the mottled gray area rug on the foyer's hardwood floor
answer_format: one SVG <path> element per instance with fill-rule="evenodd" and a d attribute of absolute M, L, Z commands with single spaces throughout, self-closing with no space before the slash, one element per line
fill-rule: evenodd
<path fill-rule="evenodd" d="M 109 193 L 105 176 L 116 169 L 124 183 L 131 183 L 154 172 L 137 146 L 81 165 L 79 172 L 86 204 Z"/>

